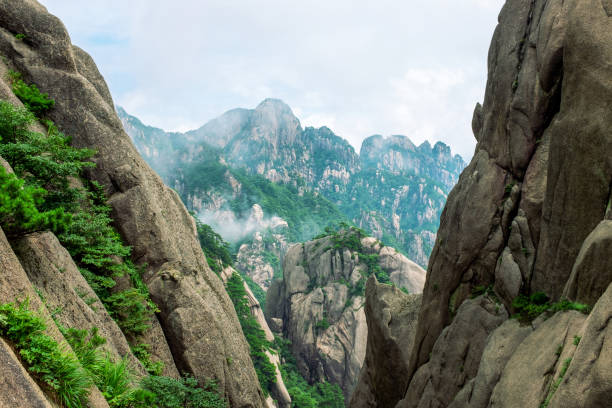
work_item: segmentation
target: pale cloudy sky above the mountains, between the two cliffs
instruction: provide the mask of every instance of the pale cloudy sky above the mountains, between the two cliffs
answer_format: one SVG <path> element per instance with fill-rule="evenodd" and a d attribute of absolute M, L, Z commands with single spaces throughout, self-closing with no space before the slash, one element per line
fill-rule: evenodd
<path fill-rule="evenodd" d="M 40 0 L 90 53 L 114 101 L 186 131 L 227 110 L 285 101 L 359 152 L 373 134 L 476 141 L 503 0 Z"/>

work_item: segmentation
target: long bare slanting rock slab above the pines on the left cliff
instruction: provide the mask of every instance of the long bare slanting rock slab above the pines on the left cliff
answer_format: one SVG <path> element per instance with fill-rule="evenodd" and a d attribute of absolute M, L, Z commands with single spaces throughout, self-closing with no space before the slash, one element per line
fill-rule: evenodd
<path fill-rule="evenodd" d="M 15 39 L 17 33 L 25 39 Z M 34 0 L 0 1 L 0 53 L 55 99 L 49 116 L 73 144 L 97 151 L 97 167 L 87 176 L 105 187 L 115 225 L 136 263 L 147 265 L 145 280 L 178 369 L 216 378 L 234 407 L 262 406 L 248 345 L 194 223 L 134 149 L 91 57 Z"/>

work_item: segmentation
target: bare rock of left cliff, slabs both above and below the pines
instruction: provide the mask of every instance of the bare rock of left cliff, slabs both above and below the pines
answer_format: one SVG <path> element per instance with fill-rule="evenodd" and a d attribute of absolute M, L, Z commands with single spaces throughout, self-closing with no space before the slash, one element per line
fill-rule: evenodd
<path fill-rule="evenodd" d="M 71 44 L 63 24 L 34 0 L 0 1 L 0 54 L 1 99 L 21 105 L 7 76 L 8 69 L 19 73 L 26 83 L 36 84 L 55 100 L 46 119 L 70 135 L 74 146 L 95 149 L 96 166 L 86 172 L 85 180 L 102 186 L 113 224 L 132 247 L 131 260 L 144 270 L 144 282 L 159 308 L 145 336 L 152 354 L 165 363 L 166 374 L 187 372 L 202 383 L 215 379 L 231 406 L 263 406 L 247 342 L 221 280 L 206 263 L 194 222 L 178 195 L 137 153 L 92 59 Z M 144 373 L 121 329 L 105 314 L 53 234 L 11 238 L 12 247 L 3 233 L 0 236 L 4 242 L 0 275 L 8 279 L 1 285 L 2 302 L 28 296 L 32 306 L 43 310 L 52 322 L 38 302 L 40 295 L 47 308 L 64 311 L 59 315 L 62 324 L 98 327 L 108 340 L 107 348 L 117 358 L 127 355 Z M 55 326 L 48 327 L 61 340 Z M 234 364 L 230 367 L 228 361 Z M 28 381 L 23 370 L 13 371 L 20 378 L 15 381 Z M 0 394 L 11 395 L 8 387 Z M 92 405 L 106 406 L 99 393 L 97 397 L 100 401 Z"/>

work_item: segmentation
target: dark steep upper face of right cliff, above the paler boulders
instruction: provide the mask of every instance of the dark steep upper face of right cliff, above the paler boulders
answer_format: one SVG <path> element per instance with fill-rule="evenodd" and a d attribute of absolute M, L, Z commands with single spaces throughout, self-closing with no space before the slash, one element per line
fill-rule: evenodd
<path fill-rule="evenodd" d="M 475 112 L 479 143 L 441 218 L 413 369 L 448 324 L 453 293 L 462 300 L 493 282 L 513 293 L 518 278 L 527 293 L 561 296 L 610 201 L 612 72 L 602 61 L 611 38 L 601 1 L 508 1 L 502 9 Z M 504 248 L 512 256 L 497 266 Z M 515 272 L 500 270 L 508 262 Z"/>

